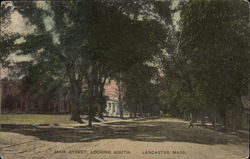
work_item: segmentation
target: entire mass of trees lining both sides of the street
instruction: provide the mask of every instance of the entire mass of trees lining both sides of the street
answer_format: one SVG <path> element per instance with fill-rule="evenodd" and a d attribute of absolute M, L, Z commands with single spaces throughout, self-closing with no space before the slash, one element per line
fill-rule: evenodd
<path fill-rule="evenodd" d="M 32 61 L 17 64 L 26 92 L 44 98 L 55 92 L 70 95 L 71 119 L 78 122 L 83 96 L 89 125 L 96 114 L 103 118 L 104 85 L 113 79 L 123 87 L 119 101 L 124 97 L 131 117 L 161 110 L 187 119 L 191 113 L 204 121 L 209 114 L 214 125 L 219 118 L 227 127 L 231 118 L 235 129 L 239 115 L 228 112 L 240 114 L 240 97 L 249 82 L 247 3 L 189 0 L 177 9 L 171 4 L 79 0 L 2 5 L 5 22 L 17 10 L 36 30 L 2 34 L 1 60 L 6 63 L 14 51 L 31 55 Z M 178 12 L 176 27 L 173 15 Z M 23 42 L 16 43 L 20 37 Z"/>

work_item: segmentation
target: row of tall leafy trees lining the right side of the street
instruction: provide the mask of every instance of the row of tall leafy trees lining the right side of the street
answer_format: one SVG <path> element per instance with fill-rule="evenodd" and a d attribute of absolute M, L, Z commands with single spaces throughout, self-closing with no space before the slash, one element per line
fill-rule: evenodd
<path fill-rule="evenodd" d="M 249 91 L 248 3 L 191 0 L 180 9 L 178 49 L 164 59 L 163 108 L 186 119 L 192 113 L 202 124 L 208 116 L 213 125 L 240 128 L 241 96 Z"/>

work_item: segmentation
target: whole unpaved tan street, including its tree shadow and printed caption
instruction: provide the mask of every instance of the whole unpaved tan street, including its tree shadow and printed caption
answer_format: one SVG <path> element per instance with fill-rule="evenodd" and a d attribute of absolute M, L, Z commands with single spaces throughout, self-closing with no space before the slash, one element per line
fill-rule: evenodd
<path fill-rule="evenodd" d="M 2 124 L 4 159 L 243 159 L 248 140 L 177 119 L 72 125 Z"/>

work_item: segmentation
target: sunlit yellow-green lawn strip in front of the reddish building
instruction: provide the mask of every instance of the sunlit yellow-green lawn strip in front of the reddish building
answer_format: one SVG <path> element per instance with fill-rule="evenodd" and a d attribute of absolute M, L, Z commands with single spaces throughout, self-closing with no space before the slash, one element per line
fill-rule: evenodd
<path fill-rule="evenodd" d="M 0 124 L 75 124 L 69 114 L 1 114 Z"/>

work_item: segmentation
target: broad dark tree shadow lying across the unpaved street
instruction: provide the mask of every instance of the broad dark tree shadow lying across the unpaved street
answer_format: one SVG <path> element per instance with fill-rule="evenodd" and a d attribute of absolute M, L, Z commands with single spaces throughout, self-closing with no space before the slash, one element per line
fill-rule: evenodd
<path fill-rule="evenodd" d="M 173 121 L 120 121 L 103 124 L 62 128 L 60 126 L 34 126 L 2 124 L 2 132 L 35 136 L 51 142 L 91 142 L 102 139 L 129 139 L 144 142 L 190 142 L 198 144 L 238 144 L 247 142 L 235 135 L 228 135 L 202 127 L 187 128 L 184 122 Z"/>

